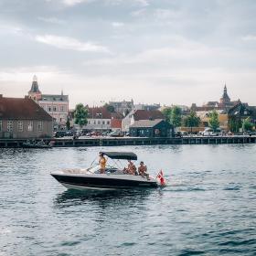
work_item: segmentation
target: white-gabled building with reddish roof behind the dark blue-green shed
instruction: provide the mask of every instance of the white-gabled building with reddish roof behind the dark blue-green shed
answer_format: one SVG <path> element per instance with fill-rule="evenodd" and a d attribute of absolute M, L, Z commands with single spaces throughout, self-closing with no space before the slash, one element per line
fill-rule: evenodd
<path fill-rule="evenodd" d="M 146 110 L 136 110 L 129 112 L 122 120 L 122 131 L 129 132 L 129 128 L 135 121 L 139 120 L 155 120 L 155 119 L 165 119 L 162 112 L 146 111 Z"/>

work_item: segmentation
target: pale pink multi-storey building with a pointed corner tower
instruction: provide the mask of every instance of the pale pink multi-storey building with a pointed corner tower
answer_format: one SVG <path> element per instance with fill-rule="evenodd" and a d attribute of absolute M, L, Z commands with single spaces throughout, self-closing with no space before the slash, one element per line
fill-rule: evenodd
<path fill-rule="evenodd" d="M 48 112 L 54 119 L 55 129 L 63 130 L 69 116 L 69 95 L 60 94 L 42 94 L 39 91 L 37 77 L 34 76 L 28 97 L 36 101 L 37 104 Z"/>

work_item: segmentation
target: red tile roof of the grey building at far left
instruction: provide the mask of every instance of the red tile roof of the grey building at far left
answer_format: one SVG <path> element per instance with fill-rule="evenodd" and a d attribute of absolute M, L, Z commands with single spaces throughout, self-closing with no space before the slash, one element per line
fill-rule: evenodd
<path fill-rule="evenodd" d="M 0 119 L 52 121 L 52 117 L 28 98 L 5 98 L 0 95 Z"/>

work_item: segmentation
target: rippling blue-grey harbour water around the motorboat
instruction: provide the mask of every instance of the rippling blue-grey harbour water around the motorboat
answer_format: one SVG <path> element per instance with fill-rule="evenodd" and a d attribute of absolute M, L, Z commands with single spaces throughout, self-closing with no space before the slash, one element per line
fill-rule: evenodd
<path fill-rule="evenodd" d="M 66 190 L 50 175 L 100 148 L 0 151 L 0 255 L 256 255 L 256 145 L 116 147 L 164 190 Z"/>

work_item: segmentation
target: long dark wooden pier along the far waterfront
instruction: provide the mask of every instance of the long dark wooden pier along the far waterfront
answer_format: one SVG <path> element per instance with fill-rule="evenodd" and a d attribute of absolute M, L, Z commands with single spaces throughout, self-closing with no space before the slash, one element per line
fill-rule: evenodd
<path fill-rule="evenodd" d="M 36 141 L 40 141 L 38 139 Z M 27 139 L 1 139 L 0 148 L 19 148 Z M 121 146 L 121 145 L 151 145 L 151 144 L 255 144 L 256 136 L 185 136 L 182 138 L 144 138 L 144 137 L 81 137 L 44 139 L 45 142 L 53 141 L 54 147 L 78 146 Z"/>

